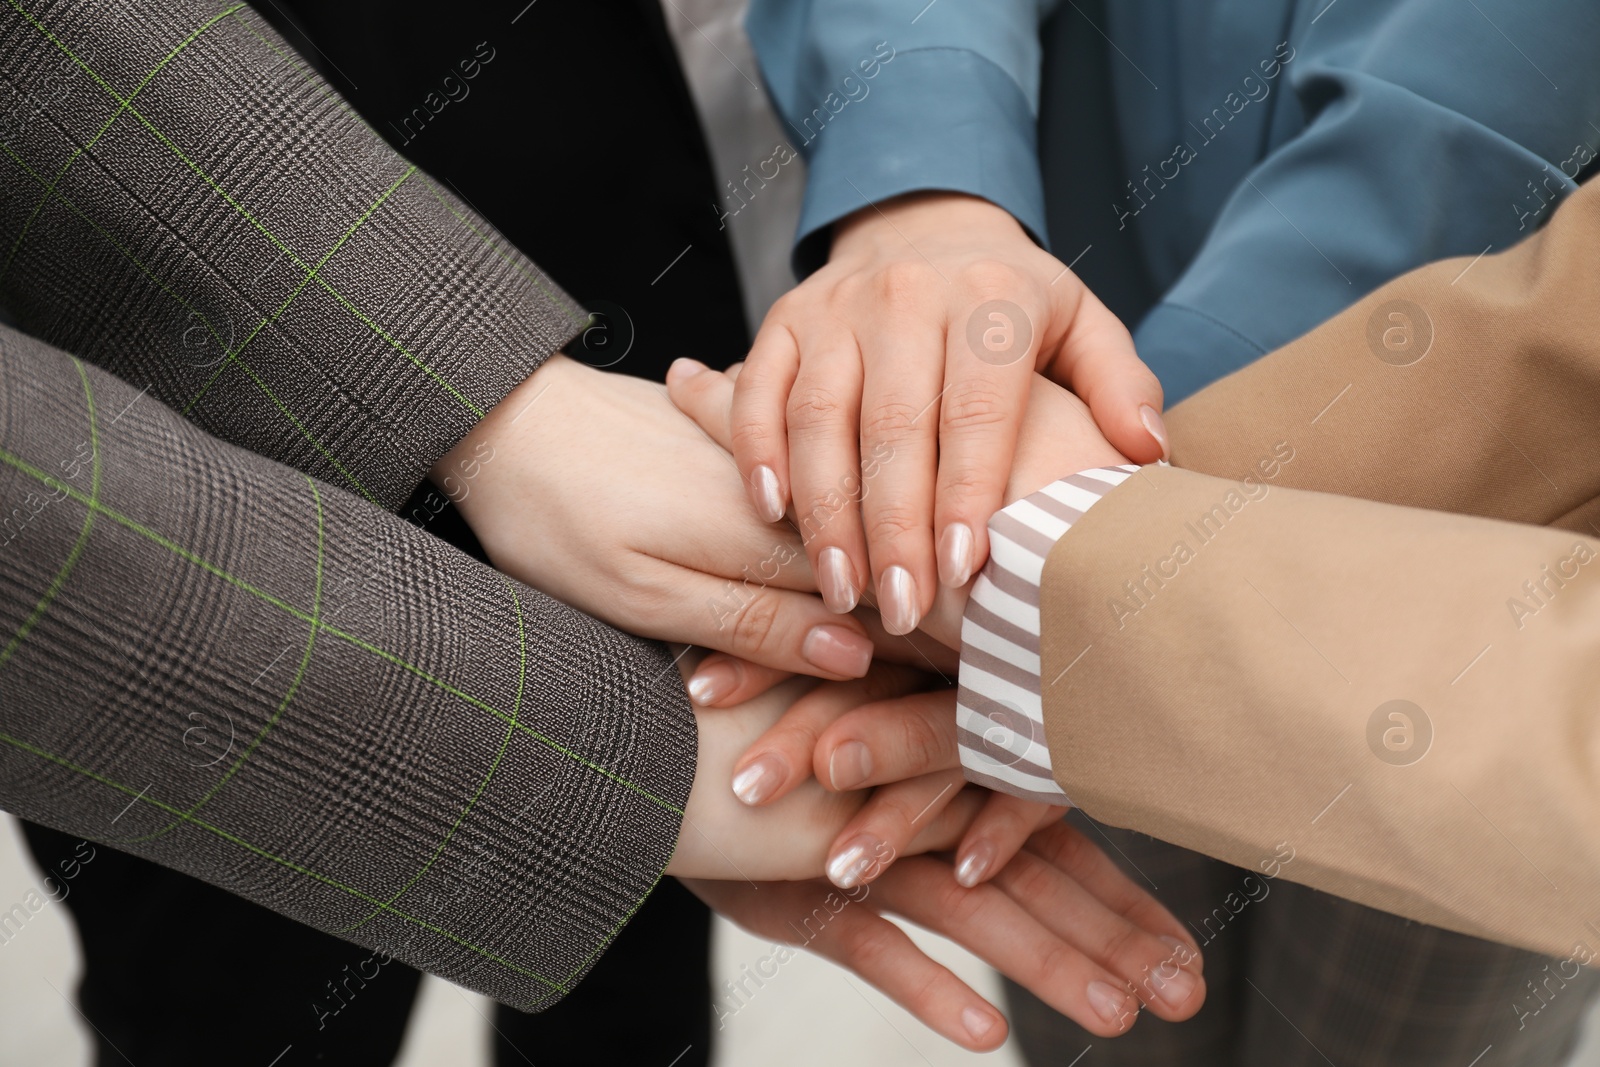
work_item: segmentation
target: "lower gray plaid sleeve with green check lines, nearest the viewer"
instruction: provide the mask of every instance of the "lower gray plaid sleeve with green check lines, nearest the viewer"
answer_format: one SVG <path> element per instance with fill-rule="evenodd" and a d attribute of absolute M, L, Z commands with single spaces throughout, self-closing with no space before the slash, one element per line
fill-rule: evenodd
<path fill-rule="evenodd" d="M 6 328 L 0 502 L 5 809 L 526 1009 L 659 878 L 658 645 Z"/>

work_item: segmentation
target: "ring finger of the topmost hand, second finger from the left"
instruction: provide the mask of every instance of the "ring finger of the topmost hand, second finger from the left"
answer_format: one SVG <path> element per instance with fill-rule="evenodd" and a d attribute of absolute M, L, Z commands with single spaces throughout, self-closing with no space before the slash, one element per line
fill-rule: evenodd
<path fill-rule="evenodd" d="M 754 371 L 746 371 L 749 378 Z M 742 381 L 741 378 L 741 381 Z M 789 472 L 795 526 L 822 601 L 851 611 L 870 573 L 861 531 L 861 350 L 843 331 L 805 339 L 789 394 Z"/>

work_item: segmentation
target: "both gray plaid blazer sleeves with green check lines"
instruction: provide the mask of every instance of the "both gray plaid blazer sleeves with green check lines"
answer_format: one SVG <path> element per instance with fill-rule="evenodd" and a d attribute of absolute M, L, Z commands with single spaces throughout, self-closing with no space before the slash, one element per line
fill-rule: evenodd
<path fill-rule="evenodd" d="M 682 683 L 382 509 L 584 314 L 245 5 L 0 0 L 0 806 L 554 1003 Z"/>

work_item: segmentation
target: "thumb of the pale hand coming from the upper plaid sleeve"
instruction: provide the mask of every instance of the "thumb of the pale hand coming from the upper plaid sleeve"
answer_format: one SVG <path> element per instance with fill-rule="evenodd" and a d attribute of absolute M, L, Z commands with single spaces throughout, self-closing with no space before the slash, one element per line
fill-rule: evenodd
<path fill-rule="evenodd" d="M 834 614 L 811 593 L 736 585 L 680 566 L 640 585 L 653 608 L 640 613 L 640 637 L 832 680 L 859 678 L 872 662 L 872 640 L 861 622 Z"/>

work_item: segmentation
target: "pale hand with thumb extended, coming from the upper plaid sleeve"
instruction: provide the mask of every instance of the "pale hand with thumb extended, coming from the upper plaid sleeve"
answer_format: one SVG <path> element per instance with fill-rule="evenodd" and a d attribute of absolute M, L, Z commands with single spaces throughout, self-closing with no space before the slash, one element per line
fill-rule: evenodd
<path fill-rule="evenodd" d="M 792 530 L 651 382 L 546 362 L 435 464 L 490 560 L 613 625 L 782 672 L 866 673 L 872 641 L 813 595 Z"/>

